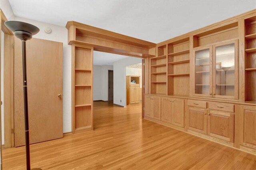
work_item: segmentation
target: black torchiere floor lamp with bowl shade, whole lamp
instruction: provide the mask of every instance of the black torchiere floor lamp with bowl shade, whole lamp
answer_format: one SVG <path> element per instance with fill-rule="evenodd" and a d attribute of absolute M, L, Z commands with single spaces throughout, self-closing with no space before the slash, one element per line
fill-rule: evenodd
<path fill-rule="evenodd" d="M 28 91 L 27 91 L 27 71 L 26 71 L 26 41 L 39 32 L 39 28 L 19 21 L 6 21 L 7 28 L 14 32 L 14 36 L 22 43 L 22 66 L 23 66 L 23 93 L 24 93 L 24 118 L 25 118 L 25 141 L 26 141 L 26 166 L 30 170 L 30 148 L 29 148 L 29 126 L 28 126 Z M 34 168 L 39 169 L 40 168 Z"/>

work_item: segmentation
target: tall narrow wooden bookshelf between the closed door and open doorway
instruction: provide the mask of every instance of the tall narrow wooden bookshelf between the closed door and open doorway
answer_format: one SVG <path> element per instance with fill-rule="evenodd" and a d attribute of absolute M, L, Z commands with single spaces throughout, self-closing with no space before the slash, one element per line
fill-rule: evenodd
<path fill-rule="evenodd" d="M 73 44 L 72 133 L 92 130 L 92 49 Z"/>

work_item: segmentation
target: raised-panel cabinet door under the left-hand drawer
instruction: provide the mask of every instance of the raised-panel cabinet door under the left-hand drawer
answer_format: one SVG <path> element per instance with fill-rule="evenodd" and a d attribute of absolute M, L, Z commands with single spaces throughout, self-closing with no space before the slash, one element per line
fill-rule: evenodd
<path fill-rule="evenodd" d="M 189 108 L 188 129 L 207 134 L 207 110 L 198 108 Z"/>

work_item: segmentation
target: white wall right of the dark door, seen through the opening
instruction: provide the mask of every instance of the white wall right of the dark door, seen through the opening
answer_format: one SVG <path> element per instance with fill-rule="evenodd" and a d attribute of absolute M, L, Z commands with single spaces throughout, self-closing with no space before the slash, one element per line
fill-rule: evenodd
<path fill-rule="evenodd" d="M 114 62 L 114 104 L 126 107 L 126 66 L 141 62 L 142 59 L 136 57 Z"/>

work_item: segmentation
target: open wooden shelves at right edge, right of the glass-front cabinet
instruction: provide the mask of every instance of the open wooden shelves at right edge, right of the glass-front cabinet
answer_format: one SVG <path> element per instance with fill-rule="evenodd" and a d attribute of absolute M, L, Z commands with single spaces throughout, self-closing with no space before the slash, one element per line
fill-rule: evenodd
<path fill-rule="evenodd" d="M 245 101 L 256 101 L 256 16 L 244 20 Z"/>

